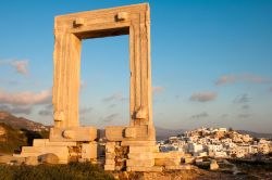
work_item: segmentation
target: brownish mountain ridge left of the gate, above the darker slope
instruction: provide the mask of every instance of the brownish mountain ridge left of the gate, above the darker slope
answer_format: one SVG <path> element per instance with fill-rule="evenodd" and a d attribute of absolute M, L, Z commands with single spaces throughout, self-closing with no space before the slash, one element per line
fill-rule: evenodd
<path fill-rule="evenodd" d="M 28 120 L 24 117 L 16 117 L 8 112 L 0 111 L 0 123 L 11 126 L 14 129 L 26 129 L 32 131 L 47 131 L 48 127 L 42 124 Z"/>

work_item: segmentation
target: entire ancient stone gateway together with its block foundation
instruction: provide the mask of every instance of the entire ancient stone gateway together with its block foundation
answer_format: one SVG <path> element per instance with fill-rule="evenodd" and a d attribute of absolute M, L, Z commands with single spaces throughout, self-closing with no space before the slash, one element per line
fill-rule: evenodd
<path fill-rule="evenodd" d="M 49 139 L 35 139 L 21 156 L 52 153 L 59 163 L 100 159 L 96 127 L 78 123 L 83 39 L 129 35 L 129 124 L 106 127 L 104 170 L 183 169 L 181 152 L 159 152 L 152 121 L 150 10 L 147 3 L 59 15 L 54 18 L 53 119 Z M 100 154 L 100 155 L 98 155 Z"/>

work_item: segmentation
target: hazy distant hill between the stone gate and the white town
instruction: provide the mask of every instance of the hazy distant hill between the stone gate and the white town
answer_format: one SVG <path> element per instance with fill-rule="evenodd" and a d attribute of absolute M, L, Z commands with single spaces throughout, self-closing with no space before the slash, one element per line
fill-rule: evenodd
<path fill-rule="evenodd" d="M 186 131 L 186 129 L 164 129 L 156 127 L 156 139 L 157 141 L 165 140 L 169 137 L 181 134 L 184 131 Z"/>

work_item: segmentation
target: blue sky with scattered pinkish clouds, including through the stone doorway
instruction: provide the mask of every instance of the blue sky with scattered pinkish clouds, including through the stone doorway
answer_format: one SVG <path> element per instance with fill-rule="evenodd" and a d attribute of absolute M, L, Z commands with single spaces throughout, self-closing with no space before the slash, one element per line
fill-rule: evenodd
<path fill-rule="evenodd" d="M 53 123 L 53 17 L 145 1 L 1 0 L 0 110 Z M 272 1 L 149 1 L 153 121 L 271 132 Z M 128 36 L 83 41 L 81 124 L 128 124 Z"/>

